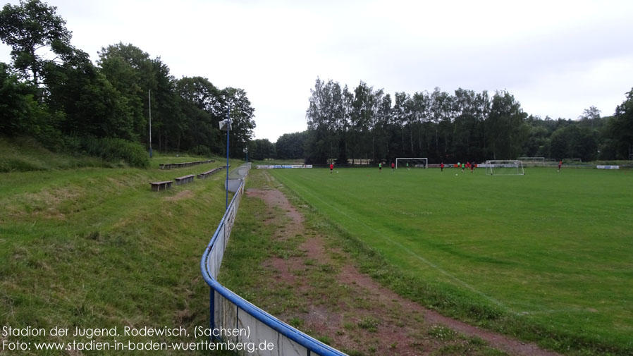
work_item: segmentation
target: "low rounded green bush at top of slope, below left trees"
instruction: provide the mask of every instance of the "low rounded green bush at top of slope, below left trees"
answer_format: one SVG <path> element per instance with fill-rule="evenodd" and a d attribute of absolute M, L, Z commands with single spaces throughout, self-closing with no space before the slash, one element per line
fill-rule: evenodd
<path fill-rule="evenodd" d="M 80 142 L 80 149 L 90 156 L 97 156 L 104 161 L 123 160 L 133 167 L 149 167 L 148 153 L 145 148 L 136 142 L 130 142 L 114 137 L 81 137 L 80 139 L 68 140 L 70 147 Z"/>

